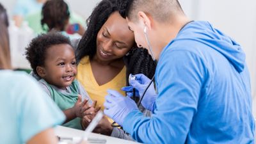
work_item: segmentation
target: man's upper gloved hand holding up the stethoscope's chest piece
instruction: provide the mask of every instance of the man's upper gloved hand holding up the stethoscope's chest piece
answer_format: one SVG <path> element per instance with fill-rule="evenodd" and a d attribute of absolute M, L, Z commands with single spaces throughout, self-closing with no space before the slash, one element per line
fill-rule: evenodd
<path fill-rule="evenodd" d="M 143 92 L 145 91 L 145 89 L 147 88 L 151 80 L 148 79 L 148 77 L 145 76 L 144 74 L 136 74 L 135 76 L 136 76 L 136 80 L 129 81 L 129 84 L 131 86 L 125 86 L 122 88 L 122 90 L 127 92 L 127 96 L 131 97 L 133 95 L 132 88 L 135 88 L 138 91 L 141 98 L 143 95 Z M 153 111 L 156 97 L 157 97 L 156 90 L 154 88 L 154 83 L 152 83 L 150 84 L 147 92 L 145 93 L 145 96 L 141 100 L 142 106 L 148 109 L 149 111 Z"/>

